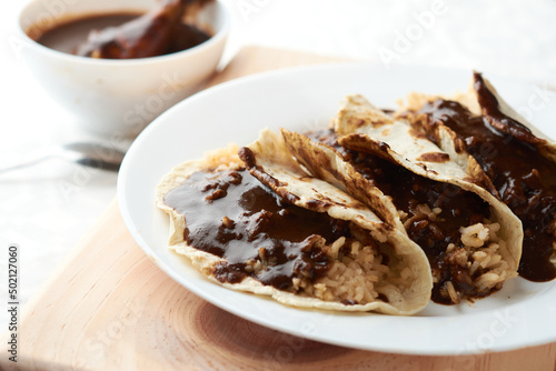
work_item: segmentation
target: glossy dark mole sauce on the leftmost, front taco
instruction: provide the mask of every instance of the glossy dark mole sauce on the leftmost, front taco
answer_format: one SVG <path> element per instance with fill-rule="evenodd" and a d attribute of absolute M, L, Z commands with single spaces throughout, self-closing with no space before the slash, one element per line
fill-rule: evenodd
<path fill-rule="evenodd" d="M 315 242 L 349 235 L 348 222 L 288 203 L 244 169 L 195 172 L 165 197 L 165 203 L 185 215 L 189 245 L 226 259 L 214 271 L 221 282 L 237 283 L 249 275 L 294 291 L 294 278 L 312 282 L 329 268 Z M 249 272 L 249 260 L 265 268 Z"/>

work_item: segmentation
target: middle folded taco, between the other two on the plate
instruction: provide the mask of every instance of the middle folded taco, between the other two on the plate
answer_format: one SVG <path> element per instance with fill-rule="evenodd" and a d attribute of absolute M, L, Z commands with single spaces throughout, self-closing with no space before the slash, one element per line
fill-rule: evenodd
<path fill-rule="evenodd" d="M 360 96 L 347 97 L 334 129 L 282 130 L 287 148 L 312 176 L 369 205 L 407 233 L 431 268 L 431 299 L 453 304 L 490 294 L 516 277 L 520 222 L 448 153 Z"/>

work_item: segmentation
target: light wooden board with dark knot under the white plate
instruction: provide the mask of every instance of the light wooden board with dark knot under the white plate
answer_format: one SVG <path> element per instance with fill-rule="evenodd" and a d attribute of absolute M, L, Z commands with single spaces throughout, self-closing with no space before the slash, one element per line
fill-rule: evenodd
<path fill-rule="evenodd" d="M 211 83 L 329 61 L 251 47 Z M 507 371 L 554 370 L 556 361 L 556 343 L 505 353 L 416 357 L 332 347 L 269 330 L 209 304 L 160 271 L 135 243 L 116 200 L 23 308 L 19 339 L 18 365 L 26 370 Z M 0 367 L 13 367 L 6 353 Z"/>

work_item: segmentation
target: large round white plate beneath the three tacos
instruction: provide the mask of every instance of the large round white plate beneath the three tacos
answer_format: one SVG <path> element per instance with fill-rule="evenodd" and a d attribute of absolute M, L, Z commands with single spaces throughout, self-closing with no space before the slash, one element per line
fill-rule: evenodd
<path fill-rule="evenodd" d="M 176 281 L 207 301 L 259 324 L 327 343 L 411 354 L 504 351 L 556 340 L 556 282 L 507 282 L 473 307 L 430 303 L 415 317 L 297 310 L 209 282 L 167 248 L 168 218 L 153 191 L 170 169 L 229 142 L 248 144 L 265 127 L 307 130 L 327 126 L 341 98 L 363 93 L 395 107 L 410 91 L 466 89 L 471 71 L 370 64 L 327 64 L 264 73 L 202 91 L 152 122 L 135 141 L 120 170 L 123 220 L 145 252 Z M 556 138 L 554 93 L 489 78 L 499 92 Z"/>

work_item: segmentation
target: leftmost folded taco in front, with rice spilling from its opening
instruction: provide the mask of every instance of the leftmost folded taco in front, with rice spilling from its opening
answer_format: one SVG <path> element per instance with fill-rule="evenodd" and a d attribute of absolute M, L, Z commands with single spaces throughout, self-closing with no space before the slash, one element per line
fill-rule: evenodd
<path fill-rule="evenodd" d="M 310 178 L 265 131 L 175 168 L 157 187 L 170 248 L 210 280 L 298 308 L 411 314 L 429 298 L 423 251 L 365 204 Z"/>

